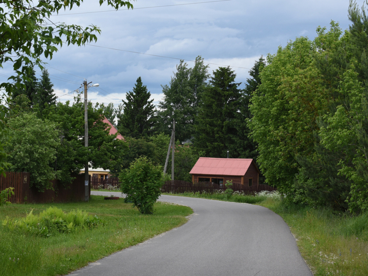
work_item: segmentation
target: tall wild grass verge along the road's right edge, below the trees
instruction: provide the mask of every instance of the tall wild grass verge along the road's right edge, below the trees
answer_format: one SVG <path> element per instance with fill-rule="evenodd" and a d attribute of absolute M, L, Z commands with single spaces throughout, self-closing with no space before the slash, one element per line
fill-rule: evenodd
<path fill-rule="evenodd" d="M 280 200 L 259 205 L 279 214 L 297 239 L 315 276 L 368 275 L 368 215 L 349 216 L 324 208 L 285 208 Z"/>

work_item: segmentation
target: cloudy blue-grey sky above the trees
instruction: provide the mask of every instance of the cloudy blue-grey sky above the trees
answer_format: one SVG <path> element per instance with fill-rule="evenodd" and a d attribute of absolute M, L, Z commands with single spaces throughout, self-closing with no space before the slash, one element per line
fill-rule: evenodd
<path fill-rule="evenodd" d="M 261 55 L 274 54 L 299 36 L 313 39 L 316 28 L 329 28 L 331 20 L 343 30 L 350 24 L 349 0 L 137 0 L 133 10 L 118 11 L 98 2 L 85 0 L 52 17 L 53 22 L 93 24 L 102 30 L 96 43 L 63 46 L 47 61 L 60 101 L 72 100 L 86 79 L 100 85 L 89 88 L 89 100 L 117 106 L 141 77 L 158 103 L 161 85 L 169 84 L 180 59 L 192 67 L 199 55 L 210 73 L 219 66 L 233 68 L 244 88 Z M 3 82 L 11 72 L 1 71 Z"/>

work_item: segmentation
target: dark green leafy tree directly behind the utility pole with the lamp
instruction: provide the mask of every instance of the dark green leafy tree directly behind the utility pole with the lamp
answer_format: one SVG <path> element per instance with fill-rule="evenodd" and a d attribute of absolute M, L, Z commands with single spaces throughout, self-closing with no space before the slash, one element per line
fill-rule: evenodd
<path fill-rule="evenodd" d="M 103 110 L 88 103 L 88 148 L 84 146 L 84 102 L 80 96 L 71 105 L 57 103 L 45 116 L 56 124 L 60 135 L 54 168 L 57 177 L 69 184 L 72 174 L 79 173 L 88 161 L 93 168 L 116 168 L 117 159 L 125 151 L 123 141 L 109 134 L 109 125 L 103 123 Z"/>

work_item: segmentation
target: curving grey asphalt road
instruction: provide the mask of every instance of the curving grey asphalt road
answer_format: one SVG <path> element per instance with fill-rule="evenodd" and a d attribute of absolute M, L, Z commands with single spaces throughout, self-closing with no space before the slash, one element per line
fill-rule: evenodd
<path fill-rule="evenodd" d="M 181 227 L 70 276 L 312 275 L 287 224 L 267 208 L 169 195 L 159 200 L 190 206 L 194 215 Z"/>

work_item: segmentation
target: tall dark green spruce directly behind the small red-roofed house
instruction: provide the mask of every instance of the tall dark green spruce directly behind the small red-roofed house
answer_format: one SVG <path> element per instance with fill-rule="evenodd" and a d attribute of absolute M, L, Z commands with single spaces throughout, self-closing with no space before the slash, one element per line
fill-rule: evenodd
<path fill-rule="evenodd" d="M 202 94 L 194 145 L 208 157 L 226 157 L 238 137 L 237 113 L 242 95 L 235 77 L 229 67 L 219 67 Z"/>

